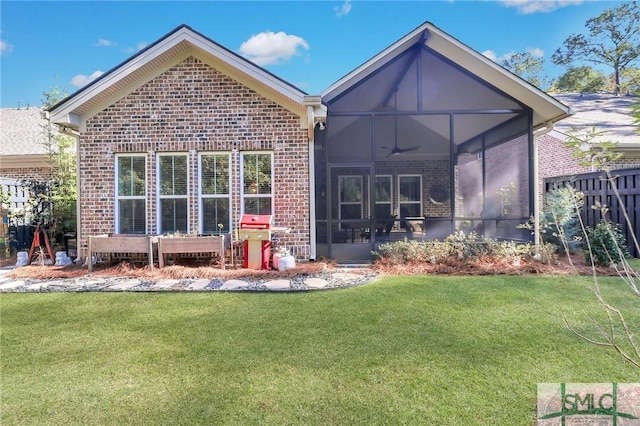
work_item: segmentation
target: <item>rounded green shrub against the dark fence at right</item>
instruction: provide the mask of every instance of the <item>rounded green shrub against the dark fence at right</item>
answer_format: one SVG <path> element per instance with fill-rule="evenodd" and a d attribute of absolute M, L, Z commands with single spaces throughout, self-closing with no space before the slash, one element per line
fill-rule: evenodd
<path fill-rule="evenodd" d="M 593 263 L 606 266 L 631 257 L 627 249 L 627 239 L 617 223 L 601 220 L 594 229 L 587 229 L 587 238 L 592 252 L 585 250 L 587 262 L 593 257 Z"/>

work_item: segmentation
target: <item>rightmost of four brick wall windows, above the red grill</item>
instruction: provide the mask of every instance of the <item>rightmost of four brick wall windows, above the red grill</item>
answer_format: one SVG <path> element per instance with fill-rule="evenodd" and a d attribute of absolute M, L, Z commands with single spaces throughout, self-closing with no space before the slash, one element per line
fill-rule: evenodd
<path fill-rule="evenodd" d="M 242 153 L 242 212 L 273 214 L 273 154 Z"/>

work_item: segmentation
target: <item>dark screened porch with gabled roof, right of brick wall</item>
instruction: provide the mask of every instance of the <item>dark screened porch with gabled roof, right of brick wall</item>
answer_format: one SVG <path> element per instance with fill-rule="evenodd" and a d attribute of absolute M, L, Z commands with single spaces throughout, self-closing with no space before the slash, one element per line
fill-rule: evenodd
<path fill-rule="evenodd" d="M 457 230 L 525 241 L 535 133 L 568 108 L 429 23 L 322 95 L 314 138 L 319 256 Z M 323 128 L 321 128 L 323 127 Z"/>

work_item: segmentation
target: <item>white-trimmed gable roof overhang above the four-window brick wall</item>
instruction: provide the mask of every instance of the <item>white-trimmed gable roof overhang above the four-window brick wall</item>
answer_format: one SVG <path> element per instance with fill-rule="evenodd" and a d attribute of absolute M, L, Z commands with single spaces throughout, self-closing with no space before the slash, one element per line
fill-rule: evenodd
<path fill-rule="evenodd" d="M 83 120 L 176 63 L 194 56 L 306 119 L 306 93 L 222 45 L 181 25 L 49 109 L 54 123 L 78 130 Z"/>

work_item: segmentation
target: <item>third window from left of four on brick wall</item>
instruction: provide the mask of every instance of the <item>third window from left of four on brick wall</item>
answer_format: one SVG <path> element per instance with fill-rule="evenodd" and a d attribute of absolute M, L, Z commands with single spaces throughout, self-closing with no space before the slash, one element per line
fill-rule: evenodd
<path fill-rule="evenodd" d="M 200 154 L 200 233 L 220 234 L 231 229 L 229 154 Z"/>

